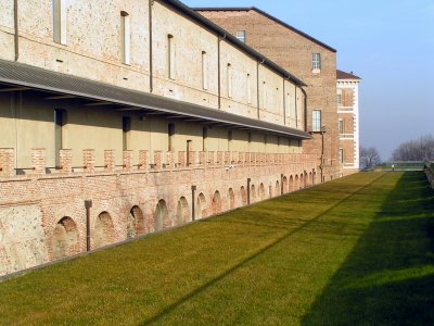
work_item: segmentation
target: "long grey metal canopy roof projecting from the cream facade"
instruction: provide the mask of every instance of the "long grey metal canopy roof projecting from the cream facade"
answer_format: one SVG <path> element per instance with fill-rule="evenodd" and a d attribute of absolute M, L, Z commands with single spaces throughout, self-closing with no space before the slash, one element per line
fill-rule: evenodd
<path fill-rule="evenodd" d="M 169 115 L 199 118 L 209 123 L 221 123 L 234 127 L 242 126 L 252 131 L 295 139 L 311 138 L 309 134 L 295 128 L 4 60 L 0 60 L 0 83 L 112 102 L 129 106 L 130 110 L 156 111 Z"/>

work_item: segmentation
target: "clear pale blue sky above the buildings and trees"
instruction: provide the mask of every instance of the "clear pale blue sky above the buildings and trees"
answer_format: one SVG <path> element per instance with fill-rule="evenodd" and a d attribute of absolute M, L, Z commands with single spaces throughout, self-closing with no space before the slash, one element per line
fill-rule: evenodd
<path fill-rule="evenodd" d="M 336 49 L 337 68 L 362 78 L 361 146 L 383 160 L 404 141 L 434 135 L 434 0 L 182 1 L 256 7 Z"/>

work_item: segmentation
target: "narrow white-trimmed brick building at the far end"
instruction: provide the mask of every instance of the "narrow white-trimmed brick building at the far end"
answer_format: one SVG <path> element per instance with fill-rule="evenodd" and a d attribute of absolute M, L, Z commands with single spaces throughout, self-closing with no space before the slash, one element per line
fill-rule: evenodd
<path fill-rule="evenodd" d="M 344 175 L 359 171 L 359 84 L 360 77 L 353 73 L 336 72 L 337 114 L 340 134 L 340 162 Z"/>

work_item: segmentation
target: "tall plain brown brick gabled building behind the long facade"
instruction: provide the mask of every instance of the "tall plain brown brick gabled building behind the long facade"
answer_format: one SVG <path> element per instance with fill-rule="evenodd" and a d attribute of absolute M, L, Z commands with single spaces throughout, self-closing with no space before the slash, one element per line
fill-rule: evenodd
<path fill-rule="evenodd" d="M 195 10 L 307 84 L 306 130 L 312 139 L 304 149 L 322 162 L 323 180 L 341 176 L 336 50 L 254 7 Z"/>

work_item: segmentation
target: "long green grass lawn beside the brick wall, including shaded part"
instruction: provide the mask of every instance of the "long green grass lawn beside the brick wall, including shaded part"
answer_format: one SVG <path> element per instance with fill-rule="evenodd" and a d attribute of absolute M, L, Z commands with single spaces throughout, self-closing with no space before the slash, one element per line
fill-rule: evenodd
<path fill-rule="evenodd" d="M 11 324 L 434 324 L 434 191 L 362 173 L 0 283 Z"/>

